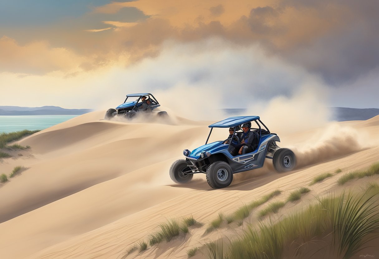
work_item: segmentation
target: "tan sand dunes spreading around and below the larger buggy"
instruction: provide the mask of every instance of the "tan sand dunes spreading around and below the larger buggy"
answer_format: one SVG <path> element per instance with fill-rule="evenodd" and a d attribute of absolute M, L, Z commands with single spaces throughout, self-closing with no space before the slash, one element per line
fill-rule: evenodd
<path fill-rule="evenodd" d="M 170 165 L 183 149 L 204 144 L 210 123 L 180 117 L 167 124 L 115 122 L 102 120 L 103 114 L 81 115 L 19 142 L 32 147 L 34 158 L 17 161 L 28 170 L 0 187 L 2 258 L 121 258 L 167 218 L 192 214 L 208 223 L 275 188 L 288 193 L 319 173 L 379 160 L 377 116 L 287 135 L 275 129 L 281 146 L 296 150 L 300 167 L 294 172 L 277 174 L 267 160 L 262 169 L 235 175 L 225 189 L 212 190 L 204 175 L 176 185 Z M 3 161 L 0 168 L 15 163 Z M 312 192 L 333 189 L 335 181 Z M 185 258 L 188 247 L 220 235 L 203 237 L 202 231 L 139 257 Z"/>

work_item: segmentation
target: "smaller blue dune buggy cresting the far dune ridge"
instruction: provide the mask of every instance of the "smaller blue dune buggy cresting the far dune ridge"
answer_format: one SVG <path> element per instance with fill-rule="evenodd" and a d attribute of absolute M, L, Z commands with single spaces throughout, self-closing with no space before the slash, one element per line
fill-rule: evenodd
<path fill-rule="evenodd" d="M 127 101 L 129 97 L 131 97 L 131 99 L 133 97 L 136 97 L 137 99 L 134 101 Z M 116 109 L 109 109 L 106 111 L 104 119 L 110 120 L 116 116 L 132 119 L 139 113 L 150 113 L 156 114 L 160 117 L 167 117 L 168 114 L 165 111 L 154 111 L 154 109 L 158 108 L 159 106 L 161 105 L 152 94 L 128 94 L 124 103 L 117 106 Z"/>

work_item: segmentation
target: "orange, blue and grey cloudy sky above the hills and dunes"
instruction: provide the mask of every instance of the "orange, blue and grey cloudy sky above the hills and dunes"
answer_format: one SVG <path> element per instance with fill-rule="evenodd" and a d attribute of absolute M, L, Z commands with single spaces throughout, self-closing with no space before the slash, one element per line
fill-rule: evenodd
<path fill-rule="evenodd" d="M 152 92 L 183 112 L 379 108 L 378 13 L 377 0 L 1 1 L 0 105 L 106 109 Z"/>

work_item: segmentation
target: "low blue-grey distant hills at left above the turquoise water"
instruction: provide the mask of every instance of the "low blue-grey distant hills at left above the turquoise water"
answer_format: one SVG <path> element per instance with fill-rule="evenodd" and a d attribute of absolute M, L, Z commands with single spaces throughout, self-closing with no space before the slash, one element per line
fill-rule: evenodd
<path fill-rule="evenodd" d="M 0 106 L 0 115 L 81 115 L 91 111 L 91 109 L 64 109 L 58 106 Z"/>

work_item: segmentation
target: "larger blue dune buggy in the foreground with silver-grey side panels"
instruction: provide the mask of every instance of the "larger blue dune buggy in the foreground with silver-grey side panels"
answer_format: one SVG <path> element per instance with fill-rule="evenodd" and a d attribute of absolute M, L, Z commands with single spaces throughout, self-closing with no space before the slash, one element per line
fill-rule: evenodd
<path fill-rule="evenodd" d="M 240 125 L 244 123 L 257 125 L 257 128 L 249 127 L 249 131 L 254 133 L 253 146 L 256 148 L 251 153 L 234 156 L 230 151 L 233 143 L 239 142 L 243 138 Z M 213 128 L 229 127 L 234 127 L 234 133 L 230 139 L 207 144 Z M 265 158 L 273 159 L 273 165 L 277 172 L 293 170 L 296 165 L 294 153 L 288 148 L 277 146 L 276 142 L 280 142 L 279 137 L 277 134 L 271 133 L 258 116 L 230 117 L 209 125 L 209 128 L 211 130 L 205 145 L 192 152 L 188 149 L 183 150 L 186 158 L 179 159 L 171 165 L 170 177 L 175 183 L 188 183 L 194 173 L 205 173 L 209 186 L 219 189 L 232 183 L 233 173 L 262 167 Z M 225 144 L 228 142 L 229 144 Z"/>

